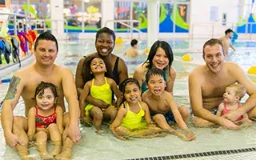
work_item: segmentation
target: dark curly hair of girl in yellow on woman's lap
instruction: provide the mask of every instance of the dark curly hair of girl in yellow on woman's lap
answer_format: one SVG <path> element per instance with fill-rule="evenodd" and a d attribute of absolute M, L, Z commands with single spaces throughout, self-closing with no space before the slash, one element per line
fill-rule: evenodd
<path fill-rule="evenodd" d="M 98 55 L 90 55 L 90 56 L 86 57 L 85 61 L 83 62 L 82 78 L 83 78 L 85 84 L 86 84 L 86 82 L 88 82 L 94 78 L 94 74 L 91 73 L 91 69 L 90 69 L 90 63 L 94 60 L 94 58 L 101 58 L 101 57 L 99 57 Z M 104 59 L 102 59 L 102 60 L 104 61 Z M 112 78 L 113 76 L 112 76 L 110 62 L 104 61 L 104 63 L 106 66 L 105 77 Z"/>

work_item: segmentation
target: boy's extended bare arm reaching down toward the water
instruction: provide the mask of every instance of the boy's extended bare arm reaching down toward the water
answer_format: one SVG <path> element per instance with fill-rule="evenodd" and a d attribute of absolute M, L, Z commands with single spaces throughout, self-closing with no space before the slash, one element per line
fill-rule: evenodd
<path fill-rule="evenodd" d="M 168 93 L 168 98 L 166 98 L 166 100 L 169 103 L 170 106 L 170 110 L 173 112 L 174 114 L 174 119 L 177 122 L 178 126 L 182 129 L 182 130 L 187 130 L 187 126 L 186 123 L 183 121 L 182 119 L 182 115 L 179 113 L 178 111 L 178 107 L 176 106 L 176 102 L 174 101 L 173 96 Z"/>

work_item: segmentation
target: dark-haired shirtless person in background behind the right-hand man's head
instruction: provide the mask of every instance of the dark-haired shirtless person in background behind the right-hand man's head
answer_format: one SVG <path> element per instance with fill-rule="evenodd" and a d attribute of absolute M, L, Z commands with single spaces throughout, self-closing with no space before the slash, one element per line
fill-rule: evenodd
<path fill-rule="evenodd" d="M 230 40 L 230 38 L 232 38 L 233 35 L 234 35 L 233 30 L 228 29 L 225 31 L 225 36 L 219 39 L 223 44 L 224 53 L 226 55 L 228 55 L 230 47 L 232 48 L 232 50 L 235 51 L 234 46 L 232 45 Z"/>

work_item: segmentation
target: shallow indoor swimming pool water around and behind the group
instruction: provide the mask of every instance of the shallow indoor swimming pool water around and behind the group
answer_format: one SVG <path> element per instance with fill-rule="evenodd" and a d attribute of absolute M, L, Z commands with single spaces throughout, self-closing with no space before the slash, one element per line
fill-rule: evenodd
<path fill-rule="evenodd" d="M 177 70 L 177 78 L 174 83 L 174 98 L 178 104 L 190 106 L 188 92 L 188 73 L 193 70 L 194 65 L 180 61 L 182 55 L 190 53 L 193 58 L 203 64 L 202 53 L 189 50 L 190 41 L 170 41 L 174 48 L 173 66 Z M 199 42 L 200 44 L 202 42 Z M 236 62 L 243 70 L 248 70 L 255 65 L 256 50 L 253 50 L 255 42 L 236 42 L 236 52 L 230 55 L 226 61 Z M 146 42 L 139 44 L 140 50 L 146 48 Z M 198 44 L 196 46 L 199 46 Z M 123 55 L 128 49 L 129 42 L 116 44 L 114 54 L 117 54 L 126 61 L 129 74 L 132 75 L 138 64 L 146 60 L 147 55 L 138 57 L 126 57 Z M 184 49 L 184 50 L 182 50 Z M 248 49 L 248 50 L 247 50 Z M 247 51 L 246 51 L 247 50 Z M 56 63 L 68 66 L 75 74 L 76 66 L 82 55 L 95 51 L 93 41 L 59 42 L 59 52 Z M 11 74 L 5 78 L 10 78 Z M 6 94 L 8 84 L 0 84 L 0 100 Z M 248 98 L 248 96 L 246 96 Z M 245 101 L 245 98 L 243 98 Z M 14 109 L 14 115 L 23 115 L 24 106 L 20 99 L 18 106 Z M 106 125 L 102 126 L 102 134 L 98 135 L 94 127 L 80 126 L 82 139 L 75 144 L 72 152 L 72 159 L 88 160 L 119 160 L 119 159 L 254 159 L 256 157 L 256 125 L 240 131 L 222 130 L 219 134 L 212 134 L 210 128 L 194 128 L 188 125 L 196 136 L 192 142 L 183 142 L 174 135 L 167 135 L 164 138 L 150 139 L 129 139 L 121 141 L 115 138 Z M 245 150 L 240 150 L 245 149 Z M 229 150 L 229 151 L 227 151 Z M 230 154 L 231 153 L 231 154 Z M 234 154 L 232 154 L 234 153 Z M 30 147 L 32 157 L 39 159 L 35 146 Z M 154 158 L 152 158 L 154 157 Z M 18 154 L 6 146 L 3 137 L 2 126 L 0 126 L 0 159 L 18 159 Z"/>

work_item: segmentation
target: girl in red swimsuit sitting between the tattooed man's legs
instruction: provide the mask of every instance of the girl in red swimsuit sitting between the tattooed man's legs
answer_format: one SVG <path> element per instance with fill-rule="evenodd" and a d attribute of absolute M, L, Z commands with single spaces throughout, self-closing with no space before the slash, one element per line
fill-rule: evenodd
<path fill-rule="evenodd" d="M 28 114 L 28 138 L 35 140 L 42 159 L 54 159 L 62 147 L 62 107 L 56 106 L 57 87 L 49 82 L 41 82 L 34 94 L 36 106 L 31 107 Z M 54 143 L 54 150 L 48 154 L 47 138 Z"/>

